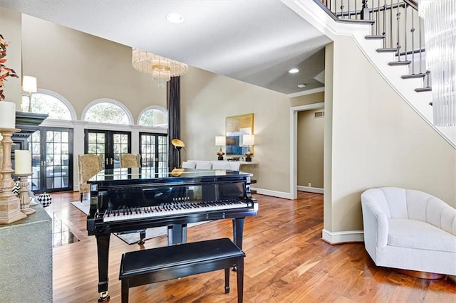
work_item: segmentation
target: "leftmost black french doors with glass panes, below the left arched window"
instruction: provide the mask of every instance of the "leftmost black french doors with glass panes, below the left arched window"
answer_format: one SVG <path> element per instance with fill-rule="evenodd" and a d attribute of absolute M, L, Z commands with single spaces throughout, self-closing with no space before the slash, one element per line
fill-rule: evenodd
<path fill-rule="evenodd" d="M 73 190 L 73 129 L 39 127 L 28 138 L 31 150 L 31 191 Z"/>

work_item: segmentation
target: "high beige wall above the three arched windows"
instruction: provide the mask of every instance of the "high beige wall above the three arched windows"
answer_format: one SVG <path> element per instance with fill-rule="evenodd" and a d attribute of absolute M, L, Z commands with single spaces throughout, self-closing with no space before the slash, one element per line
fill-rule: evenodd
<path fill-rule="evenodd" d="M 66 97 L 78 119 L 88 103 L 117 100 L 135 122 L 145 107 L 166 107 L 166 90 L 131 65 L 131 48 L 31 16 L 22 24 L 24 75 Z"/>

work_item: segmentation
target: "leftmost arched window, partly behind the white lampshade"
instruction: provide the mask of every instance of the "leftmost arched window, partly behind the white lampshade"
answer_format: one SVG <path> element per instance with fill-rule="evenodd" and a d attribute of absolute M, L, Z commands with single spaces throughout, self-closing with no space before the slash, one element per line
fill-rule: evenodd
<path fill-rule="evenodd" d="M 24 96 L 28 104 L 28 96 Z M 76 119 L 75 111 L 70 103 L 55 92 L 38 90 L 31 95 L 31 112 L 48 114 L 50 119 L 73 120 Z"/>

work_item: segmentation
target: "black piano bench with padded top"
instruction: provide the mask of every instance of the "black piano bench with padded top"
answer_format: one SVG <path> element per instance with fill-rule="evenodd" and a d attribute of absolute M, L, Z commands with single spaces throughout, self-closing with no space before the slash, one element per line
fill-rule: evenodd
<path fill-rule="evenodd" d="M 228 238 L 125 252 L 120 262 L 122 302 L 130 287 L 147 285 L 203 272 L 224 269 L 225 293 L 229 293 L 229 268 L 237 267 L 237 302 L 244 289 L 244 252 Z"/>

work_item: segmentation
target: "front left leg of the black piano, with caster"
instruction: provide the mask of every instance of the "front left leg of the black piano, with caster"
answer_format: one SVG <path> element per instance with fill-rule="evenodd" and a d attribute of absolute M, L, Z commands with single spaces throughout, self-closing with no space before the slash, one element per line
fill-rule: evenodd
<path fill-rule="evenodd" d="M 110 233 L 95 235 L 98 250 L 98 302 L 108 302 L 108 257 Z"/>

